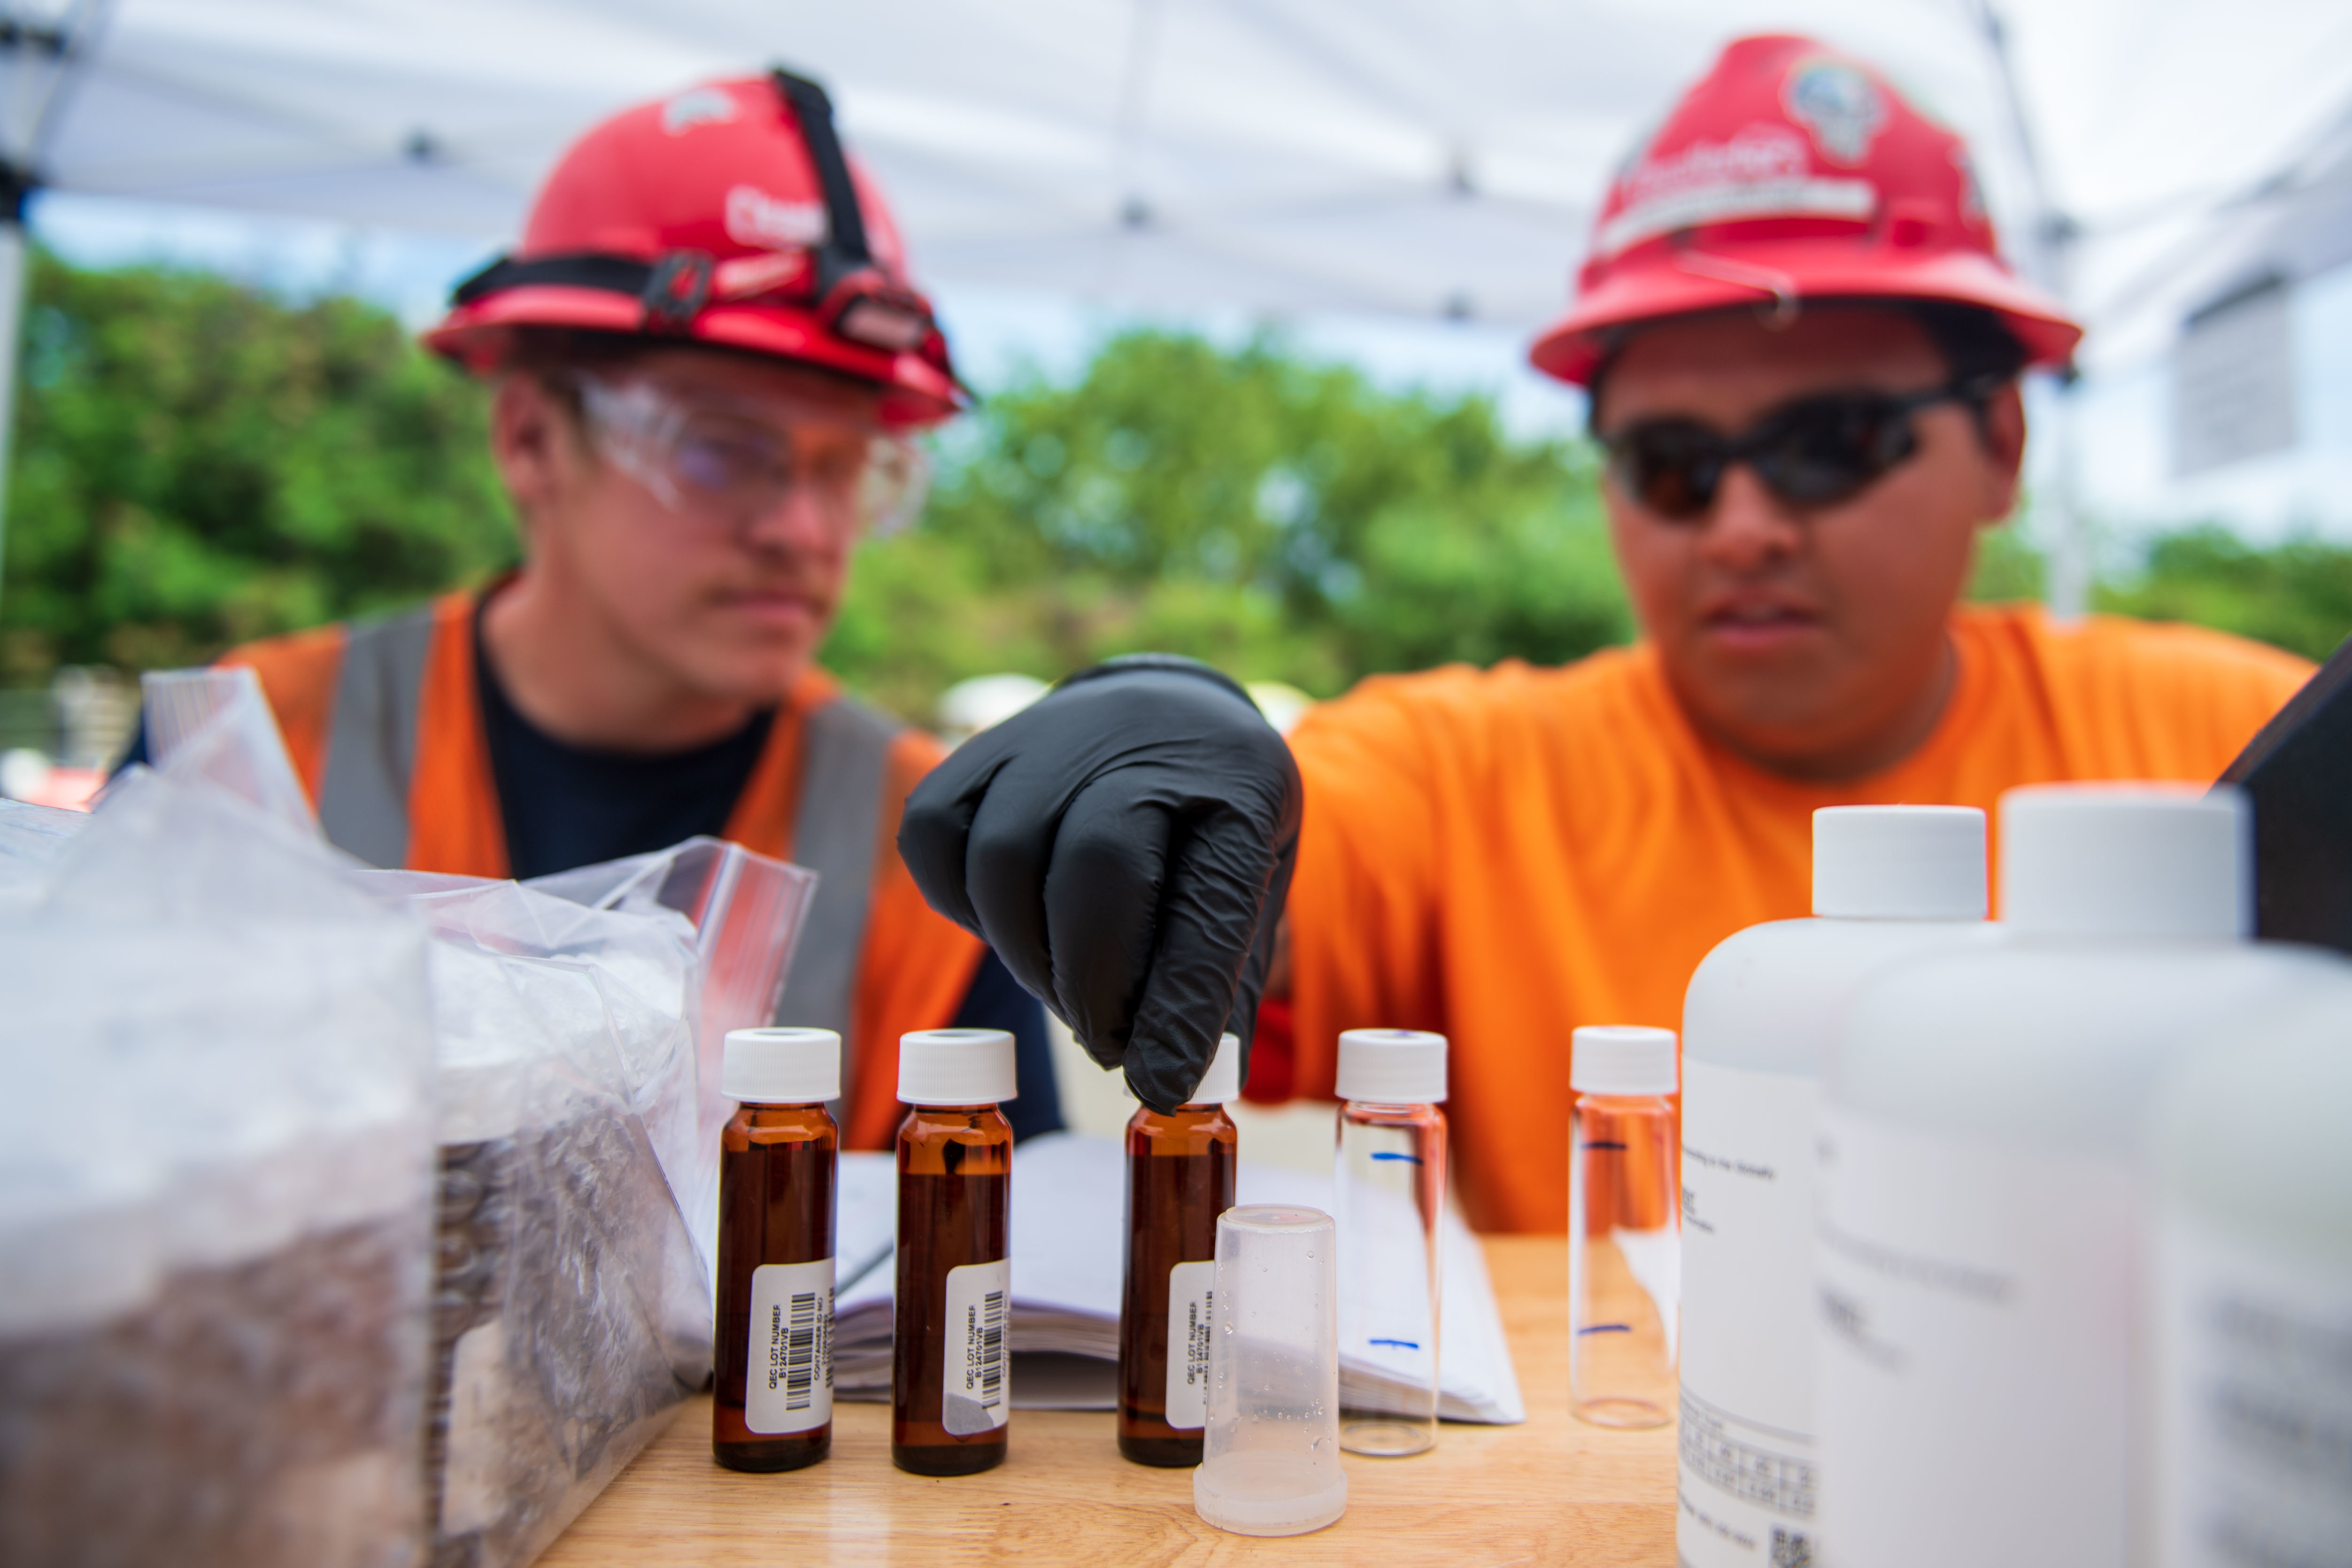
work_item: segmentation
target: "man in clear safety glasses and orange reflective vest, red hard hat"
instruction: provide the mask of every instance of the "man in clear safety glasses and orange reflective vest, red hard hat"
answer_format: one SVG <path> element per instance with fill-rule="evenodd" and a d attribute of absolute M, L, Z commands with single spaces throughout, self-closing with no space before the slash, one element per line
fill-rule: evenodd
<path fill-rule="evenodd" d="M 779 1023 L 842 1032 L 847 1143 L 889 1143 L 898 1034 L 957 1023 L 1016 1034 L 1016 1131 L 1058 1126 L 1037 1001 L 898 860 L 941 748 L 816 668 L 858 534 L 920 505 L 908 435 L 962 407 L 823 89 L 774 73 L 604 120 L 426 343 L 494 388 L 524 562 L 226 658 L 327 837 L 475 877 L 699 832 L 793 858 L 821 882 Z"/>

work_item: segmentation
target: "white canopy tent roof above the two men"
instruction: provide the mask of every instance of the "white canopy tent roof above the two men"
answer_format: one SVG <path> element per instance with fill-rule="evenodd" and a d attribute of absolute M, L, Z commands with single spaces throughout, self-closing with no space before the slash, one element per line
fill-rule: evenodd
<path fill-rule="evenodd" d="M 2034 0 L 2006 68 L 1983 0 L 0 0 L 0 160 L 492 247 L 600 115 L 788 61 L 833 85 L 927 280 L 1534 327 L 1611 165 L 1750 31 L 1886 66 L 2093 322 L 2161 303 L 2147 270 L 2204 256 L 2201 214 L 2352 103 L 2338 0 Z"/>

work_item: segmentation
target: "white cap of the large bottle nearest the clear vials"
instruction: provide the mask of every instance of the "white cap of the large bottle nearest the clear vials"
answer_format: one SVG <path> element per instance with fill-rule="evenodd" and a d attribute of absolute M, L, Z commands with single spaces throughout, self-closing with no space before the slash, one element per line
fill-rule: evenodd
<path fill-rule="evenodd" d="M 1976 806 L 1823 806 L 1813 914 L 1985 919 L 1985 813 Z"/>

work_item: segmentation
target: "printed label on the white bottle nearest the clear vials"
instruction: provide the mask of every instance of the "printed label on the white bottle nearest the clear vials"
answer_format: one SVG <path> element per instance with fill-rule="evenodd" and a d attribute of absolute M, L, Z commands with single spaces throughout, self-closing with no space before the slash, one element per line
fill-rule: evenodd
<path fill-rule="evenodd" d="M 1813 1117 L 1820 1086 L 1682 1063 L 1686 1568 L 1813 1552 Z"/>

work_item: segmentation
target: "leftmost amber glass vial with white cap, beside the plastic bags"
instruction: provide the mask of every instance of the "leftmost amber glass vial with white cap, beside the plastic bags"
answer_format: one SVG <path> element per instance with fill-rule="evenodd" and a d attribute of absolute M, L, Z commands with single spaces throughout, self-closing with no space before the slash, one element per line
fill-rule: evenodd
<path fill-rule="evenodd" d="M 720 1300 L 710 1453 L 800 1469 L 833 1450 L 833 1178 L 842 1037 L 731 1030 L 720 1088 Z"/>

